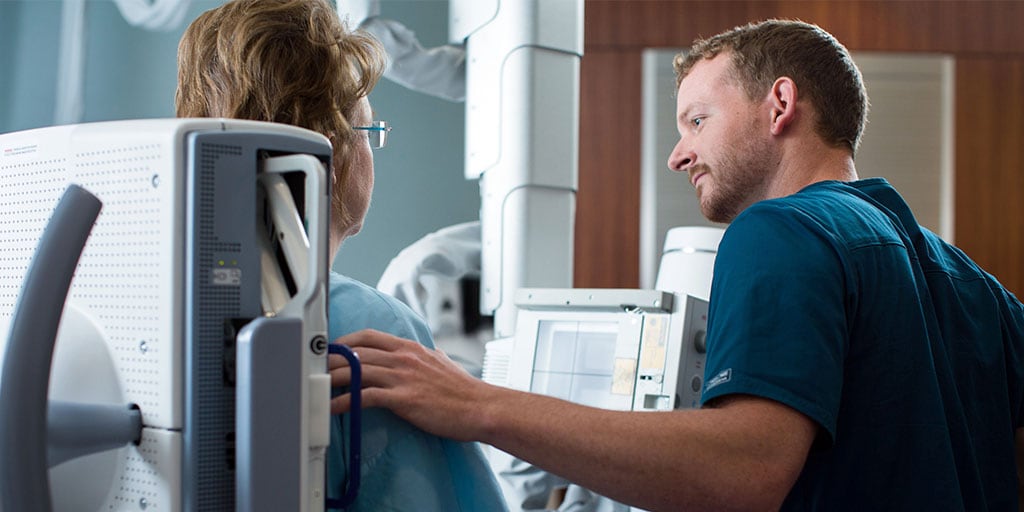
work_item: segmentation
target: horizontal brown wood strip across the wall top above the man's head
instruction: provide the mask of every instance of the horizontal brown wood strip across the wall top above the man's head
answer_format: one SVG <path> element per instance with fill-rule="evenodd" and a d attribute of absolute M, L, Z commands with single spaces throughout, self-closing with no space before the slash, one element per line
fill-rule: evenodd
<path fill-rule="evenodd" d="M 689 45 L 784 17 L 817 24 L 851 49 L 1024 52 L 1019 0 L 587 0 L 585 15 L 587 49 Z"/>

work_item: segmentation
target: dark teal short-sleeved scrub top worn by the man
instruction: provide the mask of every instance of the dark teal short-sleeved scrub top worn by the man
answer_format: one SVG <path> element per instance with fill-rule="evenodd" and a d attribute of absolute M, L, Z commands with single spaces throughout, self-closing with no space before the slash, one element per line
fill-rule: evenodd
<path fill-rule="evenodd" d="M 1021 303 L 884 179 L 763 201 L 716 257 L 705 402 L 819 426 L 783 510 L 1017 510 Z"/>

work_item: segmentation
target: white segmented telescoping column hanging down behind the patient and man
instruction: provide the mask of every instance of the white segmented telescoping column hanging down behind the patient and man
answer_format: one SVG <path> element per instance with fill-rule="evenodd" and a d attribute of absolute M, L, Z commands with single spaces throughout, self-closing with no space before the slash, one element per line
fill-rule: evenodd
<path fill-rule="evenodd" d="M 515 291 L 572 286 L 583 0 L 452 0 L 466 46 L 466 177 L 480 179 L 480 312 L 515 327 Z"/>

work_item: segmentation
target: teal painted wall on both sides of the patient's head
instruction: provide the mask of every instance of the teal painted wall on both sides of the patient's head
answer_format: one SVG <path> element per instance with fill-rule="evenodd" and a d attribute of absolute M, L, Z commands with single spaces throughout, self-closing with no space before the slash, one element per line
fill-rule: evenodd
<path fill-rule="evenodd" d="M 170 32 L 136 29 L 113 1 L 86 2 L 83 122 L 174 115 L 177 43 L 187 22 L 220 0 L 194 0 Z M 53 124 L 62 2 L 0 0 L 0 133 Z M 382 0 L 426 46 L 444 44 L 445 0 Z M 375 285 L 390 259 L 420 237 L 478 216 L 476 181 L 463 177 L 464 108 L 382 81 L 370 96 L 394 126 L 375 154 L 374 201 L 362 232 L 335 269 Z"/>

